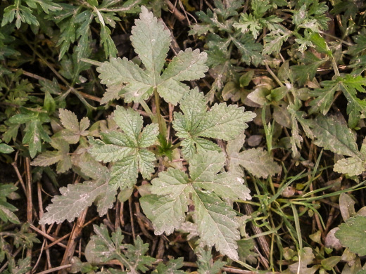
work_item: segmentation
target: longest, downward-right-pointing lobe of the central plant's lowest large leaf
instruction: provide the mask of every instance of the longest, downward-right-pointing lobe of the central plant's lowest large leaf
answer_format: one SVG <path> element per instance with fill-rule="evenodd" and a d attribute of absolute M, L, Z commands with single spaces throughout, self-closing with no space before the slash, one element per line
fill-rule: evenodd
<path fill-rule="evenodd" d="M 240 239 L 235 211 L 219 197 L 196 190 L 193 195 L 194 220 L 201 241 L 230 259 L 239 259 L 236 240 Z"/>

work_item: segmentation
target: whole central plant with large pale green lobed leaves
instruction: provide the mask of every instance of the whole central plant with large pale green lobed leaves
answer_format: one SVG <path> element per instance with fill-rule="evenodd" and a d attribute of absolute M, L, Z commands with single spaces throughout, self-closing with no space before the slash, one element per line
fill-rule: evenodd
<path fill-rule="evenodd" d="M 204 65 L 205 53 L 192 51 L 190 48 L 181 51 L 160 75 L 170 44 L 170 34 L 144 7 L 140 19 L 136 20 L 136 26 L 132 28 L 131 40 L 146 67 L 145 71 L 125 58 L 113 58 L 101 64 L 97 70 L 101 73 L 101 82 L 108 86 L 107 93 L 110 90 L 118 91 L 117 94 L 122 94 L 127 102 L 134 100 L 141 103 L 150 113 L 151 119 L 158 121 L 159 126 L 153 123 L 143 129 L 144 121 L 138 112 L 117 107 L 113 112 L 113 120 L 118 128 L 101 132 L 101 140 L 89 137 L 90 147 L 87 149 L 96 161 L 112 164 L 107 168 L 94 162 L 95 166 L 89 168 L 92 162 L 78 162 L 77 166 L 82 174 L 94 178 L 95 181 L 68 185 L 68 188 L 61 189 L 62 196 L 53 198 L 53 203 L 47 208 L 48 212 L 41 219 L 41 223 L 59 223 L 65 219 L 72 221 L 92 202 L 96 202 L 99 215 L 103 216 L 108 208 L 113 207 L 118 188 L 121 191 L 132 188 L 139 173 L 143 178 L 151 178 L 155 171 L 156 157 L 153 152 L 156 151 L 159 129 L 160 135 L 165 136 L 166 125 L 159 111 L 158 96 L 162 96 L 173 105 L 179 102 L 184 113 L 175 113 L 172 124 L 177 130 L 177 136 L 184 138 L 180 144 L 183 157 L 189 160 L 190 179 L 179 169 L 160 172 L 160 181 L 157 178 L 152 181 L 151 191 L 166 196 L 161 200 L 156 196 L 144 196 L 141 206 L 153 221 L 156 234 L 169 234 L 185 221 L 185 212 L 188 211 L 189 204 L 193 203 L 194 222 L 198 226 L 203 244 L 215 245 L 222 254 L 238 259 L 236 240 L 239 240 L 239 225 L 234 218 L 236 214 L 220 197 L 247 200 L 251 196 L 248 188 L 243 185 L 244 181 L 234 173 L 217 174 L 225 166 L 225 156 L 220 152 L 220 147 L 202 137 L 229 141 L 243 132 L 247 127 L 246 122 L 251 121 L 255 115 L 244 112 L 244 108 L 226 104 L 214 105 L 206 113 L 203 95 L 197 89 L 189 90 L 187 85 L 179 83 L 203 76 L 203 72 L 207 70 Z M 153 94 L 156 115 L 144 103 Z M 59 138 L 77 143 L 80 136 L 88 135 L 85 131 L 89 126 L 87 119 L 82 119 L 79 125 L 75 115 L 67 110 L 60 110 L 60 118 L 65 129 L 61 131 Z M 56 142 L 53 141 L 53 145 L 51 143 L 53 148 L 57 148 Z M 58 171 L 63 171 L 66 169 L 61 169 L 64 166 L 64 157 L 68 156 L 63 148 L 59 148 L 58 152 L 44 152 L 32 164 L 45 166 L 58 162 Z M 88 172 L 91 169 L 94 169 L 94 174 Z M 168 181 L 165 181 L 165 177 Z M 155 182 L 159 182 L 160 186 Z M 176 184 L 174 182 L 181 184 L 179 190 L 173 188 Z M 163 185 L 166 190 L 163 190 Z M 218 196 L 211 193 L 212 191 Z M 165 211 L 163 207 L 169 207 L 171 211 Z M 171 224 L 167 222 L 169 219 L 172 220 Z"/>

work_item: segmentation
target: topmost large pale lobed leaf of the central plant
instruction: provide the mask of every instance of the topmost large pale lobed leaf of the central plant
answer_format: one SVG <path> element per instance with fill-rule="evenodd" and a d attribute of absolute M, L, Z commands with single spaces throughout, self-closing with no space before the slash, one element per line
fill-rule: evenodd
<path fill-rule="evenodd" d="M 131 41 L 145 69 L 127 58 L 111 58 L 99 66 L 96 70 L 101 83 L 108 86 L 103 103 L 118 96 L 123 96 L 127 103 L 141 102 L 156 90 L 165 101 L 177 105 L 189 91 L 189 86 L 182 81 L 199 79 L 208 71 L 207 54 L 187 48 L 172 58 L 162 73 L 172 38 L 163 22 L 144 6 L 132 27 Z"/>

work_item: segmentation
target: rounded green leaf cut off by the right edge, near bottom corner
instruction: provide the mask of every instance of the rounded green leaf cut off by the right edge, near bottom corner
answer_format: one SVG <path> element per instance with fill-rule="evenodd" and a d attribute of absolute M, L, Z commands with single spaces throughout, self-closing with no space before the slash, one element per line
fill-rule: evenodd
<path fill-rule="evenodd" d="M 348 218 L 346 223 L 339 226 L 336 237 L 344 247 L 348 247 L 351 252 L 359 256 L 366 255 L 366 217 L 355 216 Z"/>

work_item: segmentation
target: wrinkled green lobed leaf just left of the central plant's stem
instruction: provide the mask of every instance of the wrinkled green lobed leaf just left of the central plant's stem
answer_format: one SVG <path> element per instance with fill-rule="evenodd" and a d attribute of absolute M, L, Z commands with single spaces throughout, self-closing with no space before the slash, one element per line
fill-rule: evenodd
<path fill-rule="evenodd" d="M 139 173 L 144 178 L 151 178 L 155 169 L 156 157 L 147 150 L 156 143 L 158 125 L 148 124 L 138 112 L 118 106 L 114 112 L 115 123 L 121 131 L 101 133 L 102 140 L 89 138 L 89 153 L 94 159 L 113 162 L 111 184 L 119 188 L 132 188 Z"/>

